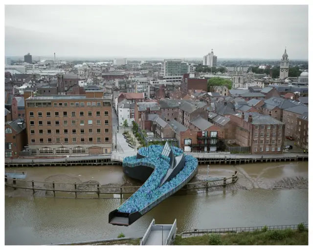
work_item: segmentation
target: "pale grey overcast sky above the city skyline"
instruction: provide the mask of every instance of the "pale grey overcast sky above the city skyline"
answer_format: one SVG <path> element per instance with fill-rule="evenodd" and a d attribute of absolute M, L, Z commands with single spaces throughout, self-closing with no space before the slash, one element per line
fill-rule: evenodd
<path fill-rule="evenodd" d="M 6 5 L 5 55 L 308 58 L 307 5 Z"/>

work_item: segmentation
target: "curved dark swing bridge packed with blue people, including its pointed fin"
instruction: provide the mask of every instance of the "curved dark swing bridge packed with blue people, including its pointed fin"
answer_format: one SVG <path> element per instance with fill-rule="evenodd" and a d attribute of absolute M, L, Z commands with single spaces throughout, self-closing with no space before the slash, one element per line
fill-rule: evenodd
<path fill-rule="evenodd" d="M 145 182 L 109 214 L 109 223 L 129 226 L 185 186 L 197 174 L 198 160 L 166 142 L 165 146 L 142 147 L 136 156 L 125 157 L 123 171 Z"/>

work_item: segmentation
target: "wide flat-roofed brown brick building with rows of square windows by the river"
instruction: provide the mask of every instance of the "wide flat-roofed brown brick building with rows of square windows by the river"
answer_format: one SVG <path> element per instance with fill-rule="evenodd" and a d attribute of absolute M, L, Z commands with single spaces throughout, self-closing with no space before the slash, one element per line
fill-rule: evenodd
<path fill-rule="evenodd" d="M 112 97 L 36 96 L 24 92 L 28 146 L 32 155 L 103 154 L 112 149 Z"/>

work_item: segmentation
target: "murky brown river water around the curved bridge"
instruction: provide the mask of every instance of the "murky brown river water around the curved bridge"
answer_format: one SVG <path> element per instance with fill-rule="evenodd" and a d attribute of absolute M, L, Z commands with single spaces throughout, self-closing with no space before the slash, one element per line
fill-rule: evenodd
<path fill-rule="evenodd" d="M 179 231 L 308 222 L 308 162 L 212 165 L 209 169 L 211 177 L 228 177 L 237 170 L 239 180 L 226 190 L 169 197 L 129 227 L 108 223 L 108 214 L 121 204 L 120 199 L 63 199 L 10 192 L 5 197 L 5 244 L 99 240 L 116 238 L 121 232 L 142 237 L 153 218 L 158 224 L 177 219 Z M 27 179 L 35 181 L 137 184 L 117 166 L 18 170 L 27 171 Z M 198 179 L 206 175 L 207 166 L 200 166 Z"/>

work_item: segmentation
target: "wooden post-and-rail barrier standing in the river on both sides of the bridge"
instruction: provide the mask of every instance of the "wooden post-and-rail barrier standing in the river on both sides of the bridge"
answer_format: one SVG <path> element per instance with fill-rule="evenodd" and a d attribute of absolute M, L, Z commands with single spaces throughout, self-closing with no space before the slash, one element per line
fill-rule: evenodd
<path fill-rule="evenodd" d="M 238 172 L 231 177 L 214 178 L 206 181 L 187 183 L 179 191 L 206 189 L 212 187 L 226 187 L 238 180 Z M 123 198 L 123 195 L 131 195 L 141 186 L 120 186 L 120 185 L 100 185 L 96 181 L 85 183 L 58 183 L 58 182 L 37 182 L 20 179 L 10 179 L 5 177 L 4 183 L 10 190 L 22 189 L 26 194 L 41 195 L 59 198 Z M 117 197 L 112 197 L 112 195 Z"/>

